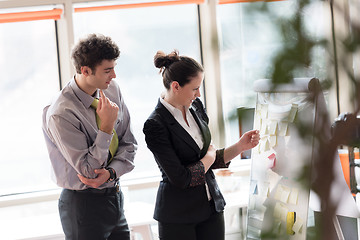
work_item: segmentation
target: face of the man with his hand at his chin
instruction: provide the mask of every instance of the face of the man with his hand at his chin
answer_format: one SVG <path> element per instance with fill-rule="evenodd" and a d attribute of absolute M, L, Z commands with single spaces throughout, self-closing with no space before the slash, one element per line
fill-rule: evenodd
<path fill-rule="evenodd" d="M 116 78 L 115 66 L 115 60 L 103 60 L 89 75 L 88 84 L 93 88 L 107 89 L 111 80 Z"/>

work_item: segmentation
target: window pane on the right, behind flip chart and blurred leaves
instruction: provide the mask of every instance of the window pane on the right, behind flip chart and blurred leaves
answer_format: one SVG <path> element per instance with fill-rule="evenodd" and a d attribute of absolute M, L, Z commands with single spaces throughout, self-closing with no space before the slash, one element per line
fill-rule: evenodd
<path fill-rule="evenodd" d="M 239 138 L 239 127 L 236 115 L 237 108 L 254 108 L 256 93 L 252 91 L 253 82 L 269 78 L 272 58 L 281 48 L 283 40 L 276 25 L 277 17 L 292 17 L 296 11 L 297 1 L 268 2 L 271 15 L 254 11 L 252 7 L 260 3 L 234 3 L 217 6 L 219 25 L 221 87 L 225 119 L 226 143 L 230 144 Z M 306 32 L 315 40 L 323 37 L 324 11 L 323 3 L 311 4 L 303 13 Z M 325 49 L 313 49 L 313 63 L 308 69 L 295 74 L 294 77 L 326 76 L 326 62 L 323 57 Z"/>

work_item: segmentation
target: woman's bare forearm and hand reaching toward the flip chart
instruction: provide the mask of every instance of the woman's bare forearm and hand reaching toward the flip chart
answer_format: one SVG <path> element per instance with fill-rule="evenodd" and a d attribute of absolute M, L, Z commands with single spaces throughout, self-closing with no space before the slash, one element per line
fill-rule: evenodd
<path fill-rule="evenodd" d="M 243 151 L 249 150 L 259 144 L 259 130 L 251 130 L 244 133 L 238 142 L 225 148 L 224 163 L 227 164 Z"/>

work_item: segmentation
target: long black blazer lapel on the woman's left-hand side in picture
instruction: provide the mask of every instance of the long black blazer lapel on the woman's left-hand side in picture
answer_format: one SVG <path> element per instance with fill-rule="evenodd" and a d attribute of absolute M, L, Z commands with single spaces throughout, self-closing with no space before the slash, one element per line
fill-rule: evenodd
<path fill-rule="evenodd" d="M 170 131 L 179 136 L 184 142 L 186 142 L 192 149 L 196 152 L 199 152 L 199 146 L 196 144 L 194 139 L 190 136 L 190 134 L 176 121 L 174 116 L 166 109 L 162 103 L 158 102 L 155 111 L 157 111 L 166 122 Z"/>

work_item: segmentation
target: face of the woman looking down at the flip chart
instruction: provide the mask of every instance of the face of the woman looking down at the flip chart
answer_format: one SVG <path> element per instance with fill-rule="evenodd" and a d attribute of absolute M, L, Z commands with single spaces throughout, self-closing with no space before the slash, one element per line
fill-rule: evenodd
<path fill-rule="evenodd" d="M 184 107 L 190 107 L 191 103 L 200 94 L 200 86 L 204 79 L 204 73 L 199 72 L 196 77 L 191 78 L 190 82 L 185 84 L 183 87 L 179 86 L 178 103 Z"/>

